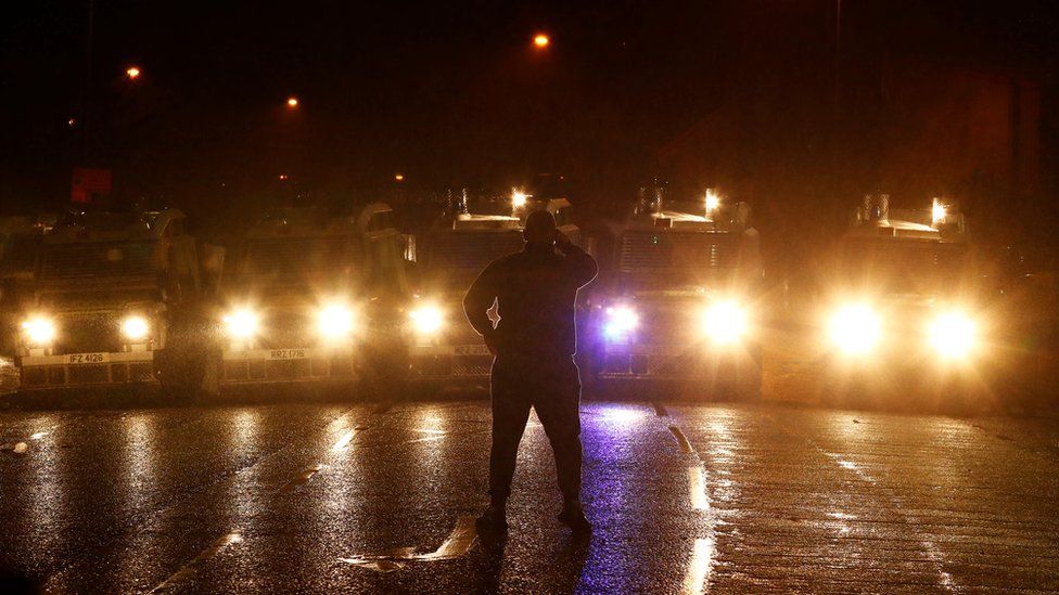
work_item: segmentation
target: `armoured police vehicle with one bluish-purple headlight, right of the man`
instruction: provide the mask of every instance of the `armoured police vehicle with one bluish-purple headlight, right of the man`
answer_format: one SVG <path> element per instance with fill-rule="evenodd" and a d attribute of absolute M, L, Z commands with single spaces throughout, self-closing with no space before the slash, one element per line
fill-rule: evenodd
<path fill-rule="evenodd" d="M 591 294 L 579 338 L 591 377 L 600 390 L 649 381 L 686 397 L 756 398 L 763 270 L 750 207 L 666 190 L 641 189 Z"/>

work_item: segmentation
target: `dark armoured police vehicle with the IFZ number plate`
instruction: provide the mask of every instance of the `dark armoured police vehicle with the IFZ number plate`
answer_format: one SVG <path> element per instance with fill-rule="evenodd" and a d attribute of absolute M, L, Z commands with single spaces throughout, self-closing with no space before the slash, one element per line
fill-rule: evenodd
<path fill-rule="evenodd" d="M 179 210 L 89 205 L 42 235 L 18 329 L 23 390 L 189 381 L 188 361 L 166 351 L 174 319 L 199 297 L 184 222 Z"/>

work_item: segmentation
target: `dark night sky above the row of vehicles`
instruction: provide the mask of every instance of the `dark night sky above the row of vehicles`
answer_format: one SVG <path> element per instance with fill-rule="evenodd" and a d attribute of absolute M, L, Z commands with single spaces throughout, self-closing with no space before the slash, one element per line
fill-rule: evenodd
<path fill-rule="evenodd" d="M 58 204 L 76 164 L 200 212 L 271 192 L 279 173 L 317 195 L 385 196 L 397 171 L 409 191 L 541 171 L 616 191 L 730 98 L 781 86 L 826 103 L 832 85 L 833 1 L 98 0 L 86 154 L 88 2 L 26 4 L 0 24 L 3 209 Z M 1055 85 L 1046 2 L 843 4 L 854 74 L 898 53 Z"/>

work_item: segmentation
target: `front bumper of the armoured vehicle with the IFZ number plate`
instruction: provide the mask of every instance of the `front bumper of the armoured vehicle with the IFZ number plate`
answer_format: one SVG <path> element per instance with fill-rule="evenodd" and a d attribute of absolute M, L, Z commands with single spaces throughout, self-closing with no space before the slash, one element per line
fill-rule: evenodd
<path fill-rule="evenodd" d="M 104 353 L 100 363 L 71 363 L 64 355 L 27 355 L 18 360 L 21 390 L 155 383 L 154 351 Z"/>

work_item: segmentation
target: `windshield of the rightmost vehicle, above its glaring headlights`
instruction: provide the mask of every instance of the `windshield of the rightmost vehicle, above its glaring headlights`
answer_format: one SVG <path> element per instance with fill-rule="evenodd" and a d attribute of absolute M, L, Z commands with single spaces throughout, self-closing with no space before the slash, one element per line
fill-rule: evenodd
<path fill-rule="evenodd" d="M 886 238 L 846 241 L 845 283 L 889 294 L 936 295 L 955 290 L 964 274 L 967 245 Z"/>

